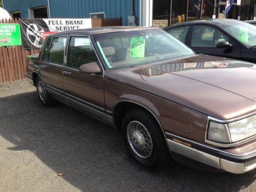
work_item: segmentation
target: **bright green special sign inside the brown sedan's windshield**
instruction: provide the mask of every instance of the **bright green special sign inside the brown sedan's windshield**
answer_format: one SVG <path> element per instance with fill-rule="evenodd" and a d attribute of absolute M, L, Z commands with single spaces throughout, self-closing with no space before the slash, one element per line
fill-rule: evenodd
<path fill-rule="evenodd" d="M 145 38 L 134 36 L 131 38 L 131 57 L 145 57 Z"/>

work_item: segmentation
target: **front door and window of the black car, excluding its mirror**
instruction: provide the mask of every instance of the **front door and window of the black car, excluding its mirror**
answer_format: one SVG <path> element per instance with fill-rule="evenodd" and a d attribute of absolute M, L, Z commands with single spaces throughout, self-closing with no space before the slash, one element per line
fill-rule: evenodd
<path fill-rule="evenodd" d="M 208 25 L 194 25 L 190 28 L 188 46 L 198 54 L 241 58 L 239 45 L 221 30 Z M 217 48 L 220 41 L 228 41 L 231 48 Z"/>

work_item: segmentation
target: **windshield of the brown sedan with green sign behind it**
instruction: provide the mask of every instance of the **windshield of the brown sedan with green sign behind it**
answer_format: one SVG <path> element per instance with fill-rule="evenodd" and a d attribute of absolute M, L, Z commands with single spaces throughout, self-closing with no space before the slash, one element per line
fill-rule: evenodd
<path fill-rule="evenodd" d="M 108 69 L 195 55 L 161 29 L 102 33 L 94 35 L 94 40 Z"/>

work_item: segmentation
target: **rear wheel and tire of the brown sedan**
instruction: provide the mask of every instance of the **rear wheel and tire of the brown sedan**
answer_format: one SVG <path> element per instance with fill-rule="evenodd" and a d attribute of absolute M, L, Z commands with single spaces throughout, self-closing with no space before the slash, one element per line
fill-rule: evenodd
<path fill-rule="evenodd" d="M 45 83 L 41 80 L 40 77 L 36 79 L 36 92 L 40 102 L 45 106 L 52 106 L 53 105 L 53 98 L 47 92 L 45 88 Z"/>

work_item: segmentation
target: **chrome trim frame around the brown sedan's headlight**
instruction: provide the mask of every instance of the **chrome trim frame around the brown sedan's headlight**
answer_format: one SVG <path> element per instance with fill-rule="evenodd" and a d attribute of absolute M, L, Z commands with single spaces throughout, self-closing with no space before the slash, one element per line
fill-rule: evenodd
<path fill-rule="evenodd" d="M 253 139 L 256 138 L 256 135 L 253 135 L 253 136 L 248 137 L 246 139 L 243 139 L 243 140 L 240 140 L 240 141 L 237 141 L 237 142 L 232 142 L 232 143 L 219 143 L 219 142 L 216 142 L 216 141 L 211 141 L 211 140 L 207 139 L 207 136 L 208 136 L 208 129 L 209 129 L 209 122 L 210 121 L 215 121 L 215 122 L 219 122 L 219 123 L 228 123 L 228 122 L 233 122 L 233 121 L 239 121 L 241 119 L 248 118 L 248 117 L 253 116 L 253 115 L 256 115 L 256 112 L 253 112 L 253 113 L 248 114 L 248 115 L 244 115 L 244 116 L 242 116 L 242 118 L 235 118 L 235 119 L 230 119 L 230 120 L 219 120 L 219 119 L 216 119 L 214 117 L 208 116 L 208 120 L 207 120 L 207 124 L 206 124 L 206 131 L 205 131 L 205 139 L 204 139 L 205 143 L 209 143 L 211 145 L 228 148 L 228 147 L 236 147 L 236 146 L 242 145 L 246 142 L 252 141 Z M 228 129 L 228 133 L 229 133 L 229 136 L 230 136 L 229 129 Z"/>

